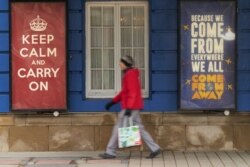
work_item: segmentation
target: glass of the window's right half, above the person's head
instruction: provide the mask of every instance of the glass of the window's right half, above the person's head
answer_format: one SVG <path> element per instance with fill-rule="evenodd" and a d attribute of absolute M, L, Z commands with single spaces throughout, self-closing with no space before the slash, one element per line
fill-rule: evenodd
<path fill-rule="evenodd" d="M 145 89 L 145 13 L 144 6 L 121 7 L 121 56 L 131 55 L 141 72 Z M 130 22 L 131 20 L 131 22 Z"/>

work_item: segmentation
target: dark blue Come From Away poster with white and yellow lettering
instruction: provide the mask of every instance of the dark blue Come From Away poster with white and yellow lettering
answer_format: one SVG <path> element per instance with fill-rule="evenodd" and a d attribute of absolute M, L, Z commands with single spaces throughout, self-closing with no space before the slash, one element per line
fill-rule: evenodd
<path fill-rule="evenodd" d="M 235 2 L 182 1 L 180 108 L 235 108 Z"/>

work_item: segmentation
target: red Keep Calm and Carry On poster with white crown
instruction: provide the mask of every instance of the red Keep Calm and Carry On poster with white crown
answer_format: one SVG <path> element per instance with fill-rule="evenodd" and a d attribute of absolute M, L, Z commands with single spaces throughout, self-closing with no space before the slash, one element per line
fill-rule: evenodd
<path fill-rule="evenodd" d="M 65 110 L 64 2 L 11 4 L 12 110 Z"/>

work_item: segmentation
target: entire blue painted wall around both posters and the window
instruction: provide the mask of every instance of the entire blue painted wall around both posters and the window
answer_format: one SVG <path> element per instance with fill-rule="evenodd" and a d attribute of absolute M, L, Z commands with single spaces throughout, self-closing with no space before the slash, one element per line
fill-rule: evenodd
<path fill-rule="evenodd" d="M 68 1 L 70 112 L 104 111 L 109 100 L 85 99 L 85 1 Z M 9 0 L 0 1 L 0 112 L 9 112 Z M 151 0 L 150 98 L 146 111 L 178 110 L 177 0 Z M 238 1 L 238 111 L 250 111 L 250 1 Z M 113 110 L 117 111 L 119 106 Z"/>

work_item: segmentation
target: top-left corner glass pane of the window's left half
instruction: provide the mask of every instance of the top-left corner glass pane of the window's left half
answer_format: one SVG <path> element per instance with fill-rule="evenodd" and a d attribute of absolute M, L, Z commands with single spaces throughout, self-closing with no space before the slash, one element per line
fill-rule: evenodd
<path fill-rule="evenodd" d="M 90 20 L 91 26 L 102 25 L 102 8 L 101 7 L 91 7 L 90 15 L 91 15 L 91 20 Z"/>

